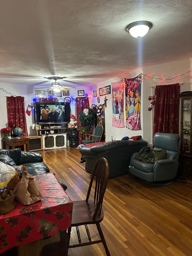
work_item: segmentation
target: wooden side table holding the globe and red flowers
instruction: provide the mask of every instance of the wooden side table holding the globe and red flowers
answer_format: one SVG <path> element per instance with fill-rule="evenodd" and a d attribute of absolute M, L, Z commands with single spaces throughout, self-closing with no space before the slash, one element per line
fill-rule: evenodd
<path fill-rule="evenodd" d="M 27 137 L 2 139 L 2 141 L 4 149 L 21 148 L 23 151 L 29 151 L 29 138 Z"/>

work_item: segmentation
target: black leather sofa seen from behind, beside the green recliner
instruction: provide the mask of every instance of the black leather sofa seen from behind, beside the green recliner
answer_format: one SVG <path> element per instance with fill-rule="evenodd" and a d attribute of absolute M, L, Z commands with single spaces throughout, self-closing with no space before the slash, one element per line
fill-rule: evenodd
<path fill-rule="evenodd" d="M 83 147 L 80 153 L 85 157 L 85 170 L 92 173 L 100 157 L 105 157 L 109 163 L 109 178 L 129 173 L 129 164 L 133 153 L 147 146 L 147 141 L 116 140 L 102 145 Z"/>

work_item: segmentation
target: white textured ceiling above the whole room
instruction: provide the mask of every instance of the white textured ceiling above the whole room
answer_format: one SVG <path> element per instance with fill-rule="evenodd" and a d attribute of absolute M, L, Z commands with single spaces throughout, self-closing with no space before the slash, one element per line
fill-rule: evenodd
<path fill-rule="evenodd" d="M 191 0 L 0 0 L 1 82 L 89 86 L 191 58 L 191 17 Z M 153 24 L 141 39 L 125 30 L 139 20 Z"/>

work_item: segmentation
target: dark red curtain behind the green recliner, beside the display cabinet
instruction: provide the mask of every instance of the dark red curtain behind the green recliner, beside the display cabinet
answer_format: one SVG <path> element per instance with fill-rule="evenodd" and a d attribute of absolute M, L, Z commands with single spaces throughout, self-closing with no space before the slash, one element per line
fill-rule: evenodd
<path fill-rule="evenodd" d="M 156 86 L 154 109 L 153 136 L 156 132 L 178 133 L 179 84 Z"/>

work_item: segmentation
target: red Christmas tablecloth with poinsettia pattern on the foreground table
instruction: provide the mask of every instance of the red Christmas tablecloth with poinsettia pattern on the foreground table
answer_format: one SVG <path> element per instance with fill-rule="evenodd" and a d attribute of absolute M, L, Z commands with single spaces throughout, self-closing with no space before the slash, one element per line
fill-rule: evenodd
<path fill-rule="evenodd" d="M 53 173 L 35 176 L 43 199 L 0 215 L 0 253 L 62 232 L 70 227 L 73 202 Z"/>

